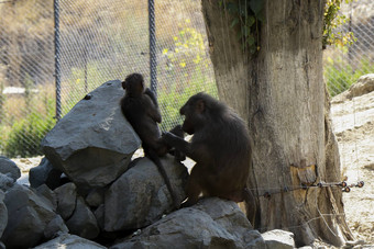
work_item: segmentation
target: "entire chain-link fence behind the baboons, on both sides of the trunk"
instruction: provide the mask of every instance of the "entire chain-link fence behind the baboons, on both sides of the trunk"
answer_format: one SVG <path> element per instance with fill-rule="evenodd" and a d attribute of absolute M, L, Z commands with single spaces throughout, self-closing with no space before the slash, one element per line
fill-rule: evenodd
<path fill-rule="evenodd" d="M 350 4 L 355 10 L 356 3 Z M 56 123 L 54 10 L 53 0 L 0 0 L 0 154 L 8 157 L 41 154 L 40 142 Z M 345 14 L 352 22 L 344 29 L 356 42 L 324 52 L 324 79 L 332 95 L 373 72 L 374 15 Z M 62 116 L 108 80 L 135 71 L 151 80 L 147 1 L 59 0 L 58 15 Z M 155 20 L 165 131 L 180 123 L 178 109 L 189 95 L 217 95 L 217 89 L 200 1 L 157 0 Z"/>

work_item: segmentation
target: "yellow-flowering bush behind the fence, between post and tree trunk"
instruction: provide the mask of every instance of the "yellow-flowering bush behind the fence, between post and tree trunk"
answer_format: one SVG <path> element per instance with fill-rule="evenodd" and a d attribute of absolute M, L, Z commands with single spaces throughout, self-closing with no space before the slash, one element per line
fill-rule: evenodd
<path fill-rule="evenodd" d="M 163 55 L 167 59 L 167 75 L 161 78 L 167 83 L 160 82 L 162 131 L 169 131 L 183 122 L 179 109 L 190 95 L 200 91 L 218 95 L 213 79 L 206 73 L 206 68 L 210 67 L 210 59 L 201 33 L 191 26 L 189 19 L 184 20 L 178 26 L 177 34 L 173 36 L 173 48 L 163 49 Z"/>

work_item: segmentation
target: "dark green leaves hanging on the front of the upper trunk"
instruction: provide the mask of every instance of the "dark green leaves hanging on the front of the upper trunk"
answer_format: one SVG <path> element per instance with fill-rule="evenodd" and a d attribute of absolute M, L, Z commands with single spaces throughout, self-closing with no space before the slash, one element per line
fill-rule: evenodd
<path fill-rule="evenodd" d="M 239 0 L 231 2 L 221 0 L 220 7 L 233 16 L 231 29 L 239 26 L 238 39 L 251 54 L 260 50 L 260 23 L 264 19 L 264 0 Z"/>

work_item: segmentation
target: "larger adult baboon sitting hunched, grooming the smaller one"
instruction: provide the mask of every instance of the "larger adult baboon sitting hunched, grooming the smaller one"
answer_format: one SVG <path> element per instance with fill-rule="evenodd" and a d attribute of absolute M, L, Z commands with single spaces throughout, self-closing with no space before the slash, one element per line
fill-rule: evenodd
<path fill-rule="evenodd" d="M 172 133 L 165 133 L 162 139 L 196 161 L 183 206 L 194 205 L 202 193 L 234 202 L 245 200 L 253 204 L 250 216 L 254 217 L 255 199 L 246 189 L 252 152 L 245 122 L 204 92 L 189 98 L 180 114 L 185 116 L 182 129 L 194 134 L 191 142 Z"/>

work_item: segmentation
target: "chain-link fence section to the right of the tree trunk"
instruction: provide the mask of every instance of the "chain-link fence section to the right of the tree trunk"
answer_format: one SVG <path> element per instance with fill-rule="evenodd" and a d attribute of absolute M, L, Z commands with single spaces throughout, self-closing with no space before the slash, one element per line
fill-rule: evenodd
<path fill-rule="evenodd" d="M 332 97 L 361 76 L 374 73 L 374 1 L 351 1 L 342 5 L 342 13 L 346 22 L 338 32 L 352 32 L 355 41 L 350 46 L 330 46 L 323 54 L 324 82 Z"/>

